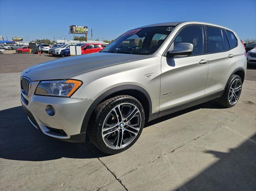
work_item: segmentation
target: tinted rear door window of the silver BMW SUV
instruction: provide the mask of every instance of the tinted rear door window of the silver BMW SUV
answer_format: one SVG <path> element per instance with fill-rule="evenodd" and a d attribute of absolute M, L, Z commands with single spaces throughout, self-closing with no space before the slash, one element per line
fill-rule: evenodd
<path fill-rule="evenodd" d="M 221 30 L 213 27 L 207 28 L 208 53 L 216 53 L 224 51 L 224 44 Z"/>

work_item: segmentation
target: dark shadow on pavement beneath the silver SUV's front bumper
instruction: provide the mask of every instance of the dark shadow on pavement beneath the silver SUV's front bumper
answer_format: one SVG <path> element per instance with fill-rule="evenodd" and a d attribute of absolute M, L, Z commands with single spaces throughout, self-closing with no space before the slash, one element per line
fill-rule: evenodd
<path fill-rule="evenodd" d="M 50 138 L 30 124 L 22 106 L 0 111 L 0 158 L 47 161 L 59 158 L 95 158 L 84 144 Z"/>

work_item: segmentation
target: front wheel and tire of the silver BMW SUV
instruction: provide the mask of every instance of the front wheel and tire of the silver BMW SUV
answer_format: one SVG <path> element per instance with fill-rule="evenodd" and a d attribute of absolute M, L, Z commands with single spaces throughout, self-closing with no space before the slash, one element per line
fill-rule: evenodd
<path fill-rule="evenodd" d="M 140 102 L 128 95 L 115 96 L 94 110 L 88 136 L 102 152 L 117 154 L 130 148 L 144 127 L 145 114 Z"/>

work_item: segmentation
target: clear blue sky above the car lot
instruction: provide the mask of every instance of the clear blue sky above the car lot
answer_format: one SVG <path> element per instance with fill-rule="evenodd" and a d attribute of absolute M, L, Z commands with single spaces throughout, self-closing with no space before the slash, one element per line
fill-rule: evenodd
<path fill-rule="evenodd" d="M 72 39 L 68 26 L 93 30 L 93 39 L 115 39 L 147 24 L 200 21 L 226 26 L 240 39 L 256 39 L 256 0 L 0 0 L 0 35 Z"/>

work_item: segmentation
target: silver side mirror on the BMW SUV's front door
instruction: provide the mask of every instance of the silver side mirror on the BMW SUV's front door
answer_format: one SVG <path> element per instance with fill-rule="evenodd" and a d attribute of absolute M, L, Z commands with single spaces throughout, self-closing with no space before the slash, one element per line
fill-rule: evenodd
<path fill-rule="evenodd" d="M 167 58 L 190 56 L 193 51 L 193 45 L 191 43 L 178 43 L 174 46 L 172 51 L 168 51 Z"/>

